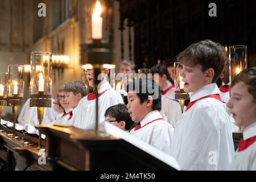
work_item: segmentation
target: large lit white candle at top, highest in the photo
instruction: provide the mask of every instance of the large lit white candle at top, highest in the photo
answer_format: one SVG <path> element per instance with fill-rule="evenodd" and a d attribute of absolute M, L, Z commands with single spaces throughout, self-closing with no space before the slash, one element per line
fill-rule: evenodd
<path fill-rule="evenodd" d="M 96 2 L 95 9 L 92 14 L 92 38 L 101 39 L 102 38 L 102 18 L 101 15 L 101 3 Z"/>

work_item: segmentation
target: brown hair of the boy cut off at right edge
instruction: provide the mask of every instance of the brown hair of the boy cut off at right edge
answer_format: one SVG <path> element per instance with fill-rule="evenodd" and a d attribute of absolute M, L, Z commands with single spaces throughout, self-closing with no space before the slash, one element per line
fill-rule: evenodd
<path fill-rule="evenodd" d="M 248 68 L 239 73 L 231 82 L 231 88 L 238 82 L 244 82 L 248 87 L 248 92 L 254 97 L 256 102 L 256 67 Z"/>

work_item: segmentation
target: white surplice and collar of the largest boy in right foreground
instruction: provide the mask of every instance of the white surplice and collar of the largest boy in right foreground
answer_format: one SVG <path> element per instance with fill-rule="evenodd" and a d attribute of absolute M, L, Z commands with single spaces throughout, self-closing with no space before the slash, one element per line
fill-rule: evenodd
<path fill-rule="evenodd" d="M 216 84 L 205 85 L 190 101 L 219 94 Z M 171 155 L 184 170 L 226 170 L 234 156 L 230 117 L 225 104 L 203 98 L 186 110 L 176 124 Z"/>

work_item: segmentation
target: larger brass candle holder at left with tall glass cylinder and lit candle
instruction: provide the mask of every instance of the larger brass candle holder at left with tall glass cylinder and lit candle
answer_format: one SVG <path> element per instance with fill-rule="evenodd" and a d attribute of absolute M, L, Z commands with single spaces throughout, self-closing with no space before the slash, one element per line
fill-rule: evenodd
<path fill-rule="evenodd" d="M 52 54 L 31 52 L 30 107 L 37 107 L 38 123 L 42 125 L 44 107 L 52 105 Z M 42 133 L 39 131 L 38 149 L 42 148 Z"/>

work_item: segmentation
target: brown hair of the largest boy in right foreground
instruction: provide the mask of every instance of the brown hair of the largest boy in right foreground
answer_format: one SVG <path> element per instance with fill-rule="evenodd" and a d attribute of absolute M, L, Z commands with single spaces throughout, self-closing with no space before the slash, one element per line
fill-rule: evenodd
<path fill-rule="evenodd" d="M 228 57 L 226 56 L 225 48 L 221 44 L 214 43 L 212 40 L 202 40 L 180 52 L 177 60 L 189 67 L 195 67 L 199 64 L 202 66 L 203 72 L 213 68 L 214 76 L 212 82 L 216 82 L 224 70 Z"/>

